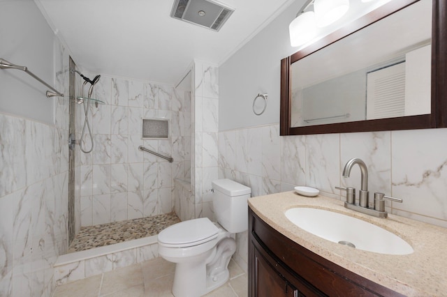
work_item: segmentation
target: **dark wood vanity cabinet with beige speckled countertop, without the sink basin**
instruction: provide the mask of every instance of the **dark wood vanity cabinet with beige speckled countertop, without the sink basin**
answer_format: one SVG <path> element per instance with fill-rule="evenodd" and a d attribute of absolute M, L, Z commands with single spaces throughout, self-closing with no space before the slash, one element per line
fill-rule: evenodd
<path fill-rule="evenodd" d="M 371 222 L 404 238 L 414 251 L 379 254 L 327 241 L 286 218 L 294 207 Z M 447 230 L 441 227 L 396 215 L 373 218 L 344 208 L 337 199 L 283 192 L 249 199 L 249 231 L 249 296 L 447 294 Z"/>

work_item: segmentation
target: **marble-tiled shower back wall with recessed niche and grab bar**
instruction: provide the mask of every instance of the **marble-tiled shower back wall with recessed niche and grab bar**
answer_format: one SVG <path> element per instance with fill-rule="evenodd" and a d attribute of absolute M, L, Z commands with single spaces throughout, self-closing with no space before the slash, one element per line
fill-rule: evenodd
<path fill-rule="evenodd" d="M 191 176 L 191 96 L 170 85 L 101 75 L 94 98 L 105 105 L 90 107 L 94 148 L 79 153 L 82 226 L 172 212 L 174 179 Z M 82 105 L 76 112 L 82 131 Z M 170 139 L 142 139 L 142 119 L 169 119 Z M 88 135 L 84 143 L 89 149 Z M 140 145 L 174 162 L 139 151 Z"/>

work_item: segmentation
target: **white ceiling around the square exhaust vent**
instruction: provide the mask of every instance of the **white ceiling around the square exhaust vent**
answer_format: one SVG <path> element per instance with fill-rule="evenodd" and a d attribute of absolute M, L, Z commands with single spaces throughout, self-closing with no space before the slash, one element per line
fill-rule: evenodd
<path fill-rule="evenodd" d="M 34 0 L 82 70 L 177 84 L 193 59 L 219 65 L 295 0 L 223 0 L 219 32 L 170 17 L 174 0 Z"/>

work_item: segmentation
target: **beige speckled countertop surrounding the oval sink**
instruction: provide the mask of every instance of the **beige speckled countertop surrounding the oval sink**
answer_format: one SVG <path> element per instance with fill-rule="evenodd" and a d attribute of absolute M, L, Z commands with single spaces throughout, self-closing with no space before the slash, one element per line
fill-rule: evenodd
<path fill-rule="evenodd" d="M 249 199 L 251 209 L 284 236 L 304 248 L 353 273 L 406 296 L 447 295 L 447 229 L 388 214 L 374 218 L 344 208 L 343 201 L 323 197 L 303 197 L 281 192 Z M 414 252 L 406 255 L 377 254 L 353 250 L 300 229 L 290 222 L 285 211 L 305 206 L 322 208 L 372 222 L 407 241 Z"/>

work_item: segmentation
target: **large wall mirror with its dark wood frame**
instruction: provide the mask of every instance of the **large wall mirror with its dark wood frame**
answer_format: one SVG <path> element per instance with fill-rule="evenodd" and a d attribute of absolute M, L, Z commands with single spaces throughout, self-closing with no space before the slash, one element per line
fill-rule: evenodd
<path fill-rule="evenodd" d="M 392 0 L 281 60 L 281 135 L 446 127 L 447 0 Z"/>

